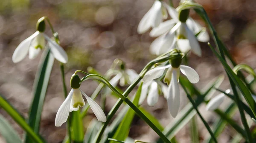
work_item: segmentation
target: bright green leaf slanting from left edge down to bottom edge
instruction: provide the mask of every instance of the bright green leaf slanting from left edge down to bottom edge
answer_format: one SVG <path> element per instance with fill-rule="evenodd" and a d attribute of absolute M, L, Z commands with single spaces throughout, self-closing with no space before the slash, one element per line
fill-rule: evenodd
<path fill-rule="evenodd" d="M 21 128 L 26 131 L 29 137 L 36 143 L 45 143 L 45 141 L 33 129 L 26 123 L 24 118 L 17 112 L 16 109 L 12 107 L 1 95 L 0 95 L 0 107 L 2 107 L 12 118 L 13 120 L 21 126 Z"/>

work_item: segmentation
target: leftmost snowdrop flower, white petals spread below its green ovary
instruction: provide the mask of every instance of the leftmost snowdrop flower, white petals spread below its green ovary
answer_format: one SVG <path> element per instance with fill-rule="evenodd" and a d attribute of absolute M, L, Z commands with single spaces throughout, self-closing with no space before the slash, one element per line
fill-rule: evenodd
<path fill-rule="evenodd" d="M 29 54 L 29 59 L 35 59 L 41 50 L 45 48 L 45 40 L 48 42 L 49 48 L 52 55 L 59 62 L 67 63 L 67 53 L 58 45 L 55 41 L 52 41 L 46 34 L 44 34 L 45 22 L 39 19 L 37 23 L 37 31 L 29 36 L 27 39 L 23 40 L 20 45 L 17 46 L 13 55 L 12 61 L 14 63 L 23 60 L 27 54 Z"/>

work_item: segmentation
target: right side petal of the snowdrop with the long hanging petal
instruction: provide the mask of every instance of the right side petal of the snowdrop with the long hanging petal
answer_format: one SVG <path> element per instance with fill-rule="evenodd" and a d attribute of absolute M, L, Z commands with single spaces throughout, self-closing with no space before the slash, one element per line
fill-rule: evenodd
<path fill-rule="evenodd" d="M 194 69 L 186 65 L 180 65 L 180 71 L 189 79 L 192 84 L 198 83 L 199 76 Z"/>

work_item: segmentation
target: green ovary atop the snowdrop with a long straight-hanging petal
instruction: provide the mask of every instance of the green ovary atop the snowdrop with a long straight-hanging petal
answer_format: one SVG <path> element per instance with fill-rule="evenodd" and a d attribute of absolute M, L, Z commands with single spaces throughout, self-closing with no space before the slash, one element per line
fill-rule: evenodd
<path fill-rule="evenodd" d="M 169 62 L 172 65 L 172 67 L 174 68 L 180 67 L 182 56 L 183 54 L 180 52 L 180 50 L 175 49 L 171 52 L 171 58 Z"/>

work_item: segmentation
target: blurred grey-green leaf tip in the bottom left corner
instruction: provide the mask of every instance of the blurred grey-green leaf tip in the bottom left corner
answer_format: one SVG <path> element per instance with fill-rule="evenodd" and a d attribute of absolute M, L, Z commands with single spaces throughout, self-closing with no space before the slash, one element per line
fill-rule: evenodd
<path fill-rule="evenodd" d="M 22 143 L 18 133 L 2 115 L 0 115 L 0 133 L 5 138 L 6 143 Z"/>

